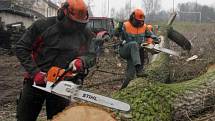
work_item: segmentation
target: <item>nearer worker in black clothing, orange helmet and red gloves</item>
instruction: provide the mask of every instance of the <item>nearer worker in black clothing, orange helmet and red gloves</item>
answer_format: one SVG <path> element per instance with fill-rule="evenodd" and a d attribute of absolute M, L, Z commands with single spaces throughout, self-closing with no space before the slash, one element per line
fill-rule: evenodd
<path fill-rule="evenodd" d="M 67 0 L 57 16 L 35 21 L 17 42 L 16 55 L 26 71 L 17 101 L 18 121 L 36 121 L 44 102 L 47 119 L 70 104 L 69 100 L 32 85 L 45 87 L 45 77 L 53 66 L 70 66 L 72 72 L 82 73 L 95 64 L 94 35 L 86 27 L 88 21 L 84 1 Z"/>

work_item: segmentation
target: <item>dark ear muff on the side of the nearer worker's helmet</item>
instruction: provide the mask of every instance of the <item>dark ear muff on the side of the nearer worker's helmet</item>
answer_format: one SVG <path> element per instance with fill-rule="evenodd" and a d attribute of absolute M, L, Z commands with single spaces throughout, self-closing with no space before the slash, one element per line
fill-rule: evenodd
<path fill-rule="evenodd" d="M 64 11 L 66 10 L 66 14 L 67 14 L 68 7 L 69 7 L 69 3 L 65 2 L 63 4 L 63 6 L 60 9 L 58 9 L 58 11 L 57 11 L 57 20 L 59 20 L 59 21 L 63 20 L 63 18 L 66 16 Z"/>

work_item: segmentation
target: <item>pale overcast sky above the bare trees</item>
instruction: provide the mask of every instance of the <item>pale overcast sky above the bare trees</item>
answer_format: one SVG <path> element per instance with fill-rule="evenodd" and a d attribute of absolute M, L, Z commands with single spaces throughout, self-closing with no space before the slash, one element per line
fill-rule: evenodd
<path fill-rule="evenodd" d="M 88 0 L 85 0 L 88 3 Z M 92 11 L 94 16 L 107 16 L 108 15 L 108 0 L 90 0 Z M 124 7 L 127 2 L 130 0 L 109 0 L 110 9 L 115 8 L 119 10 L 120 8 Z M 142 0 L 131 0 L 132 8 L 137 8 L 142 6 Z M 201 5 L 208 5 L 215 7 L 215 0 L 174 0 L 174 6 L 177 7 L 178 3 L 185 3 L 185 2 L 197 2 Z M 170 10 L 173 7 L 173 0 L 161 0 L 161 8 L 163 10 Z M 110 14 L 110 11 L 109 11 Z"/>

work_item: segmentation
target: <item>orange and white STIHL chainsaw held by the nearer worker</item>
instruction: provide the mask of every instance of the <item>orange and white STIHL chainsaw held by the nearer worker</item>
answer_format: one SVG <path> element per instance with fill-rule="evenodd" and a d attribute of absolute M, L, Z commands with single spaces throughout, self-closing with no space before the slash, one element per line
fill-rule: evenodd
<path fill-rule="evenodd" d="M 66 78 L 68 78 L 68 75 L 70 79 L 78 75 L 77 73 L 72 73 L 70 70 L 71 69 L 65 70 L 59 67 L 52 67 L 46 76 L 46 86 L 37 86 L 34 83 L 33 87 L 66 98 L 70 101 L 82 100 L 121 111 L 130 110 L 130 105 L 127 103 L 92 92 L 83 91 L 80 89 L 80 85 L 71 80 L 67 81 Z"/>

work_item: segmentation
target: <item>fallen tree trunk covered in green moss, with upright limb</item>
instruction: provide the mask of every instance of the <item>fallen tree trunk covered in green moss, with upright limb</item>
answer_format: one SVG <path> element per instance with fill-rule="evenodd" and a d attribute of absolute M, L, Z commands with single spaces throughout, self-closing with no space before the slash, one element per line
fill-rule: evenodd
<path fill-rule="evenodd" d="M 172 22 L 169 22 L 172 23 Z M 168 47 L 167 32 L 170 26 L 161 28 L 163 47 Z M 126 121 L 188 121 L 215 103 L 215 68 L 204 75 L 182 83 L 164 84 L 169 80 L 169 56 L 155 55 L 147 67 L 145 78 L 137 78 L 113 98 L 131 105 L 131 111 L 121 115 Z M 131 117 L 126 118 L 126 116 Z"/>

